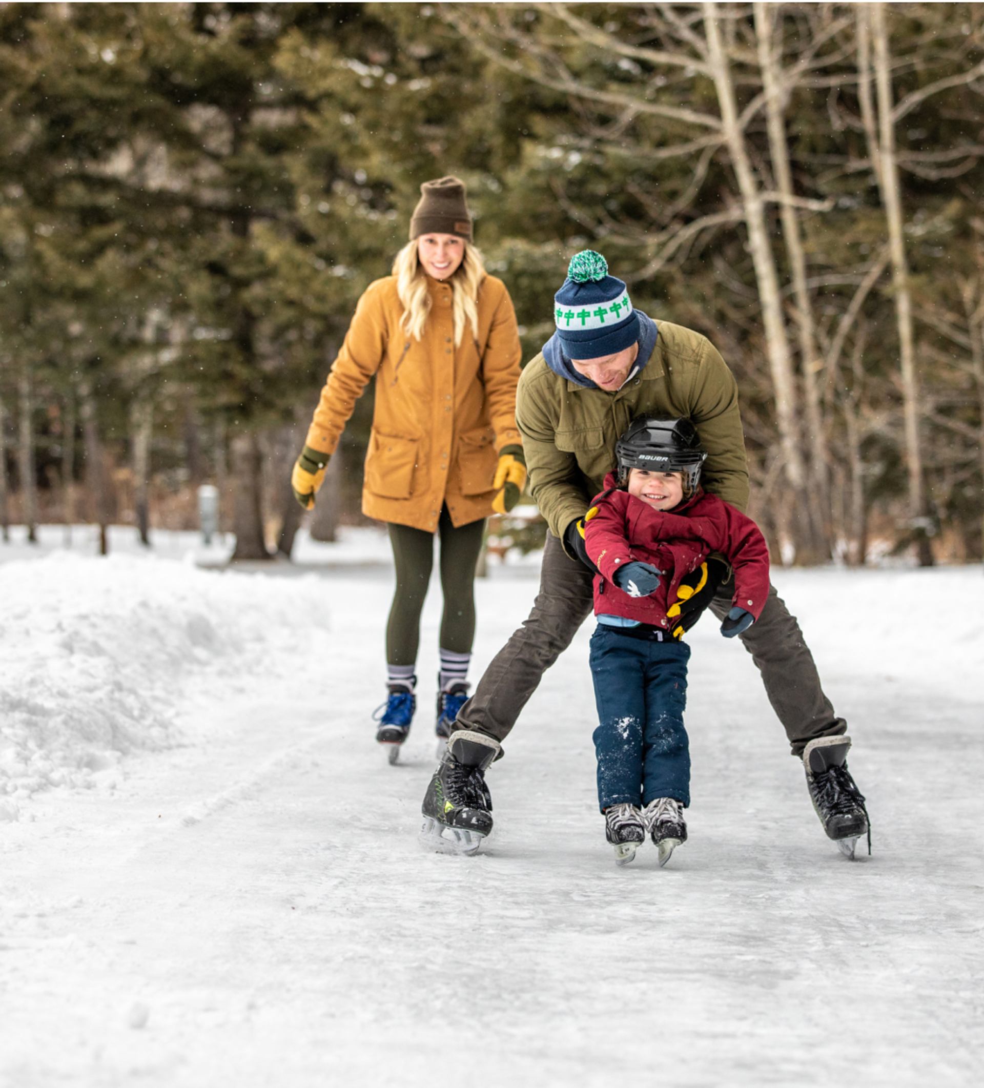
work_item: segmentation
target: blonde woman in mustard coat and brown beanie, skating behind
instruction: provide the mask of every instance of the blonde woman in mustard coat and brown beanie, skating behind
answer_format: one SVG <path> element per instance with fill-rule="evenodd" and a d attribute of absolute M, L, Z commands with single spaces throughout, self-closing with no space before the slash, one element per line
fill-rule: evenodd
<path fill-rule="evenodd" d="M 468 692 L 484 519 L 512 509 L 526 483 L 512 299 L 471 244 L 464 184 L 442 177 L 420 191 L 410 242 L 393 274 L 359 299 L 292 478 L 297 500 L 311 509 L 355 401 L 377 374 L 362 512 L 386 522 L 396 564 L 386 623 L 389 697 L 376 738 L 390 746 L 391 763 L 416 708 L 434 533 L 444 594 L 436 732 L 446 737 Z"/>

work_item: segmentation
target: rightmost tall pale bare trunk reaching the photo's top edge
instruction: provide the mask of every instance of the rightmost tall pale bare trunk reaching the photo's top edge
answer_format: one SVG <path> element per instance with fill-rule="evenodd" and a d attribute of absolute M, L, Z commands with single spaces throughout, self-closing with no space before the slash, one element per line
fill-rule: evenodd
<path fill-rule="evenodd" d="M 917 533 L 917 555 L 921 567 L 933 565 L 933 549 L 927 531 L 926 497 L 923 489 L 922 449 L 919 435 L 919 382 L 915 373 L 915 348 L 912 326 L 912 296 L 902 219 L 902 197 L 895 151 L 895 120 L 891 115 L 891 58 L 885 4 L 870 5 L 874 39 L 875 87 L 878 101 L 880 162 L 878 181 L 882 203 L 888 223 L 888 247 L 895 294 L 896 324 L 899 335 L 899 361 L 902 376 L 902 416 L 906 435 L 906 468 L 909 474 L 909 519 Z"/>

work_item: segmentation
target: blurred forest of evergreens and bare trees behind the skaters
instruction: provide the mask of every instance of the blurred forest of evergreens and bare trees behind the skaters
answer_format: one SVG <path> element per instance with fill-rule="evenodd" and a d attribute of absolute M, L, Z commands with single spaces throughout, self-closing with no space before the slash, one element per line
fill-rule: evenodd
<path fill-rule="evenodd" d="M 984 5 L 4 3 L 0 95 L 4 539 L 208 482 L 290 554 L 356 299 L 456 173 L 526 359 L 586 246 L 711 337 L 776 558 L 982 558 Z"/>

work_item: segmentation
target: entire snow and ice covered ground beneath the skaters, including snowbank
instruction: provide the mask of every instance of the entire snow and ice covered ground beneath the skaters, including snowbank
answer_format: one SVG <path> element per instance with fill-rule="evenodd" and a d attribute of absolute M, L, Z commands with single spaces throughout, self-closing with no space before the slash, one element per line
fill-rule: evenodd
<path fill-rule="evenodd" d="M 3 1088 L 980 1081 L 980 567 L 776 572 L 851 725 L 870 860 L 823 837 L 705 620 L 690 841 L 617 868 L 590 625 L 490 772 L 493 839 L 447 857 L 416 840 L 436 586 L 390 767 L 383 540 L 310 545 L 291 578 L 127 540 L 0 545 Z M 530 565 L 479 583 L 479 667 L 534 591 Z"/>

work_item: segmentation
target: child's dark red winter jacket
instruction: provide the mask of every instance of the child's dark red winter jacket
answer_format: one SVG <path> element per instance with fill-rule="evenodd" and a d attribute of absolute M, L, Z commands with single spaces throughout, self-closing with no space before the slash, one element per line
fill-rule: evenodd
<path fill-rule="evenodd" d="M 598 512 L 585 522 L 588 555 L 601 571 L 594 578 L 594 611 L 669 628 L 667 609 L 677 601 L 680 581 L 719 552 L 735 570 L 733 604 L 755 619 L 768 594 L 768 548 L 759 527 L 716 495 L 698 491 L 672 510 L 654 510 L 642 499 L 615 486 L 612 473 L 605 491 L 592 502 Z M 613 581 L 634 559 L 663 572 L 656 592 L 630 597 Z"/>

